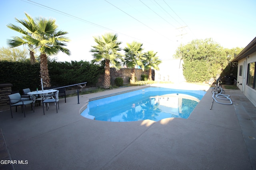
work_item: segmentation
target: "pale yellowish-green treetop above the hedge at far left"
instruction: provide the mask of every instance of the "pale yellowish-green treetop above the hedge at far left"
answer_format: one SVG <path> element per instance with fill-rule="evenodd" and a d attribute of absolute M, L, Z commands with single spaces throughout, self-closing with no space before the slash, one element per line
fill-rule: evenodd
<path fill-rule="evenodd" d="M 0 61 L 26 61 L 28 56 L 28 51 L 25 48 L 0 48 Z"/>

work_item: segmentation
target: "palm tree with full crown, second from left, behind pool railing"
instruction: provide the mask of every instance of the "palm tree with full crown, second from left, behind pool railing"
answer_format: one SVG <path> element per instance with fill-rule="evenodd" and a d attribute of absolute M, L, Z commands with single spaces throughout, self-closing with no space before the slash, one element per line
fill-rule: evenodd
<path fill-rule="evenodd" d="M 97 45 L 92 46 L 90 52 L 94 53 L 92 63 L 101 63 L 105 66 L 103 88 L 110 88 L 110 64 L 116 69 L 120 69 L 122 64 L 122 54 L 119 53 L 122 49 L 119 45 L 122 43 L 117 39 L 118 35 L 106 33 L 101 37 L 94 37 Z"/>

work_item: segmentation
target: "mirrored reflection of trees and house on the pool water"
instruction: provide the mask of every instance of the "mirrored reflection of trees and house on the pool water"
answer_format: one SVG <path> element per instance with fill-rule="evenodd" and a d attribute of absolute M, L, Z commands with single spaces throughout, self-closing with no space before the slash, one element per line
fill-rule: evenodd
<path fill-rule="evenodd" d="M 102 121 L 138 121 L 150 119 L 159 121 L 168 117 L 188 118 L 199 99 L 187 94 L 165 94 L 144 100 L 127 98 L 119 104 L 90 108 L 90 115 Z M 105 107 L 105 108 L 104 108 Z"/>

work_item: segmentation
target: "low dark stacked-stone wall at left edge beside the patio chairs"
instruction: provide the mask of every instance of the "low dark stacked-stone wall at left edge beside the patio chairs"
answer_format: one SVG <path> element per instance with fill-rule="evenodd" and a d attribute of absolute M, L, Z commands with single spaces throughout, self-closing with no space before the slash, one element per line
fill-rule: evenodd
<path fill-rule="evenodd" d="M 12 94 L 12 84 L 0 84 L 0 106 L 9 105 L 10 94 Z"/>

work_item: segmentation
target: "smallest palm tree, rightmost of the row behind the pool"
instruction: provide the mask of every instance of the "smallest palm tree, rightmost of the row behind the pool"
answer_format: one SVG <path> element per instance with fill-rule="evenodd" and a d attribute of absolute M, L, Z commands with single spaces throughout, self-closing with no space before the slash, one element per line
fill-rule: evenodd
<path fill-rule="evenodd" d="M 154 53 L 154 51 L 146 52 L 146 60 L 144 60 L 144 66 L 145 70 L 149 70 L 148 80 L 152 80 L 151 68 L 153 67 L 155 70 L 159 70 L 158 65 L 162 63 L 162 61 L 158 57 L 156 57 L 156 53 Z"/>

